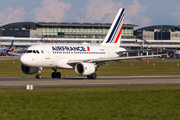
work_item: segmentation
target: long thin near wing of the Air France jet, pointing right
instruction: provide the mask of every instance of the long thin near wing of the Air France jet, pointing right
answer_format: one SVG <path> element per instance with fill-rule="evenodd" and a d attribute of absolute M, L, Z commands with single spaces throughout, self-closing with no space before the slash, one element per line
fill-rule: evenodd
<path fill-rule="evenodd" d="M 107 62 L 107 61 L 129 60 L 129 59 L 141 59 L 141 58 L 150 58 L 150 57 L 156 57 L 156 56 L 161 56 L 161 54 L 160 55 L 148 55 L 148 56 L 144 55 L 144 56 L 115 57 L 115 58 L 69 60 L 68 64 L 73 64 L 73 63 L 78 63 L 78 62 L 94 63 L 94 62 Z"/>

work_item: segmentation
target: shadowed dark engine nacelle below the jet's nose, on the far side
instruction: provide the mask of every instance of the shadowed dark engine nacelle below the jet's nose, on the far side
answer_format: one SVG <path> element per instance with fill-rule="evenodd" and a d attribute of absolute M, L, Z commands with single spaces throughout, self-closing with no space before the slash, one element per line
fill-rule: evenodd
<path fill-rule="evenodd" d="M 25 65 L 21 65 L 21 71 L 25 74 L 35 74 L 38 72 L 38 68 L 36 67 L 28 67 Z"/>

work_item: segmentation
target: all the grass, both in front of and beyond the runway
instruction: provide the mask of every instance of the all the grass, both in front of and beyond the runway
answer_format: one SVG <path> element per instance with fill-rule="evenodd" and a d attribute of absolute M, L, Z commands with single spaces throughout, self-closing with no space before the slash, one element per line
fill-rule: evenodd
<path fill-rule="evenodd" d="M 155 66 L 153 66 L 155 64 Z M 98 76 L 180 75 L 179 60 L 108 62 Z M 0 61 L 0 77 L 23 74 L 18 60 Z M 74 70 L 58 70 L 63 77 Z M 50 77 L 51 69 L 42 71 Z M 180 85 L 0 88 L 0 120 L 164 120 L 180 119 Z"/>

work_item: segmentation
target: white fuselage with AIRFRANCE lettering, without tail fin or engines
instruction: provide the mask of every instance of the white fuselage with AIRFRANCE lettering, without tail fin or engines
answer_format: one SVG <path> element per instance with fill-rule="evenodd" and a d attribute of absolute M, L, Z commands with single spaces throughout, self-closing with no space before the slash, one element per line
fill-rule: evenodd
<path fill-rule="evenodd" d="M 72 69 L 69 60 L 89 60 L 119 57 L 116 53 L 124 48 L 101 45 L 41 44 L 30 46 L 20 57 L 29 67 Z"/>

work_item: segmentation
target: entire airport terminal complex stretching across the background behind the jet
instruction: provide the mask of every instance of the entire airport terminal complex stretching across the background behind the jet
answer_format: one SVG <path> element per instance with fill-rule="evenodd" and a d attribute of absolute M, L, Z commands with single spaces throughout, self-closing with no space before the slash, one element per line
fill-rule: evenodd
<path fill-rule="evenodd" d="M 37 43 L 99 44 L 105 38 L 111 23 L 56 23 L 17 22 L 1 26 L 1 46 L 14 40 L 15 47 Z M 180 50 L 180 26 L 156 25 L 135 29 L 138 25 L 124 24 L 121 47 Z"/>

